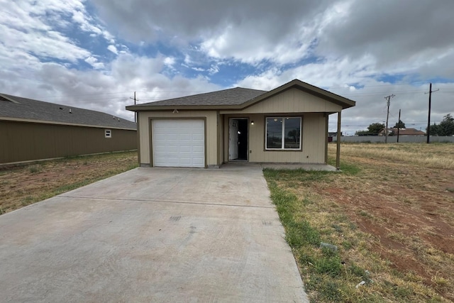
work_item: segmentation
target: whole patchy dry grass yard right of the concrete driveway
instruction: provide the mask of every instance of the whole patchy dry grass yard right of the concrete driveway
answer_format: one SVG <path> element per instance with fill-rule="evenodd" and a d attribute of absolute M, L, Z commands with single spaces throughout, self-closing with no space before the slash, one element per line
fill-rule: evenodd
<path fill-rule="evenodd" d="M 331 160 L 335 152 L 329 145 Z M 265 171 L 292 209 L 287 226 L 279 211 L 287 240 L 314 232 L 293 246 L 311 299 L 454 301 L 454 145 L 345 143 L 341 162 L 340 173 Z"/>

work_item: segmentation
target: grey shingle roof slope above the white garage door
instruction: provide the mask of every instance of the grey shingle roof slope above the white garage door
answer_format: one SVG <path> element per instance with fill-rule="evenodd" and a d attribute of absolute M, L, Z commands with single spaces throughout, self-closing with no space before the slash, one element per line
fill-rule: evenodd
<path fill-rule="evenodd" d="M 217 92 L 205 94 L 193 94 L 191 96 L 154 101 L 150 103 L 137 104 L 135 106 L 204 106 L 204 105 L 240 105 L 264 94 L 266 91 L 258 89 L 244 89 L 236 87 L 223 89 Z"/>

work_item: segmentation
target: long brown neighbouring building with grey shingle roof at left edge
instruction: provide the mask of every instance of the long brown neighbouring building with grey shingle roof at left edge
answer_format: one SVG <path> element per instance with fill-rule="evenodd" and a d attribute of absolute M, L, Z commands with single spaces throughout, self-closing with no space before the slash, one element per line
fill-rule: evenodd
<path fill-rule="evenodd" d="M 0 94 L 0 164 L 137 149 L 137 128 L 116 116 Z"/>

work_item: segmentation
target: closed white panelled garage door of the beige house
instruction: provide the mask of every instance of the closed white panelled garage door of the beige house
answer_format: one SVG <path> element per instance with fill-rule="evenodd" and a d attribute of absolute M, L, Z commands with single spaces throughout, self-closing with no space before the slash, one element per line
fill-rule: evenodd
<path fill-rule="evenodd" d="M 205 167 L 204 120 L 153 120 L 153 166 Z"/>

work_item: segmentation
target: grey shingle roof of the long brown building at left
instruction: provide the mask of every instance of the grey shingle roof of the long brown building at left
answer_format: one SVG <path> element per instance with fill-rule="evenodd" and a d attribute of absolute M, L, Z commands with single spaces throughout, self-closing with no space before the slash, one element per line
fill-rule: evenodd
<path fill-rule="evenodd" d="M 0 119 L 26 119 L 109 128 L 136 129 L 134 122 L 101 111 L 80 109 L 22 97 L 0 94 Z"/>

